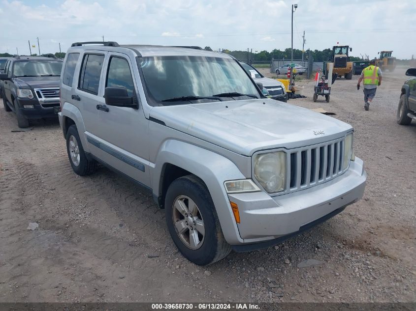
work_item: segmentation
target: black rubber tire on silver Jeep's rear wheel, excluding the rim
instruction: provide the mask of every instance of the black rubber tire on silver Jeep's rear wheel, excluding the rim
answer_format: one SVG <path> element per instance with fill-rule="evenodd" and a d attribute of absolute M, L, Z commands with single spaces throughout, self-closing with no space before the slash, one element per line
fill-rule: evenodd
<path fill-rule="evenodd" d="M 76 140 L 79 152 L 79 164 L 76 165 L 71 157 L 71 151 L 69 148 L 69 141 L 71 136 Z M 82 147 L 81 140 L 79 138 L 78 129 L 75 125 L 71 125 L 66 132 L 66 152 L 68 153 L 69 163 L 72 170 L 80 176 L 85 176 L 93 173 L 96 170 L 97 162 L 95 160 L 89 160 L 85 155 L 84 148 Z"/>

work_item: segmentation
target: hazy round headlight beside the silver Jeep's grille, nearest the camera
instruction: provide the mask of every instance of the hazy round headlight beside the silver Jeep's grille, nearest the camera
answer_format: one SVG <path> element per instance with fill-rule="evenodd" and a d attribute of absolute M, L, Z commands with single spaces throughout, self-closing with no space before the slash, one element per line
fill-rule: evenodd
<path fill-rule="evenodd" d="M 269 193 L 285 190 L 286 153 L 257 154 L 254 158 L 254 176 Z"/>

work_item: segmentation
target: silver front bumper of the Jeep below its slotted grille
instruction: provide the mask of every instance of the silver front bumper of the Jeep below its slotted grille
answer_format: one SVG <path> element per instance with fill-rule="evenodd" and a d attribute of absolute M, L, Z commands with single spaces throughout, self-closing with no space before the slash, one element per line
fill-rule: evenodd
<path fill-rule="evenodd" d="M 336 215 L 334 211 L 340 212 L 362 198 L 366 178 L 362 160 L 355 158 L 345 173 L 312 188 L 276 197 L 270 197 L 265 192 L 228 195 L 229 200 L 238 205 L 240 213 L 238 230 L 243 239 L 240 245 L 264 244 L 262 242 L 294 235 L 303 226 L 313 224 L 331 213 Z M 278 242 L 276 240 L 275 243 Z M 271 245 L 261 244 L 260 247 L 253 245 L 246 249 Z"/>

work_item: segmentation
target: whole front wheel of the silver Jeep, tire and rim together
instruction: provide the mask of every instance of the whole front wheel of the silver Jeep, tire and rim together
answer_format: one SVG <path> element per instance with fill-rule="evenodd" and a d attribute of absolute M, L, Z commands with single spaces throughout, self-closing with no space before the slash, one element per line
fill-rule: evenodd
<path fill-rule="evenodd" d="M 167 189 L 164 207 L 170 236 L 188 260 L 208 265 L 229 254 L 231 247 L 201 179 L 188 175 L 174 180 Z"/>

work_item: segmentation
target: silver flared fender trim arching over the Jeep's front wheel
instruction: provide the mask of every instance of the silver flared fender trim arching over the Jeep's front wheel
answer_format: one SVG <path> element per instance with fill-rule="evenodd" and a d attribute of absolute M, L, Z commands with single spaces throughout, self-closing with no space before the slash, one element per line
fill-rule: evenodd
<path fill-rule="evenodd" d="M 196 145 L 177 140 L 165 141 L 159 150 L 153 172 L 153 194 L 161 195 L 160 176 L 165 164 L 188 170 L 206 184 L 214 202 L 225 240 L 229 244 L 243 242 L 225 192 L 224 181 L 246 178 L 237 166 L 224 156 Z"/>

